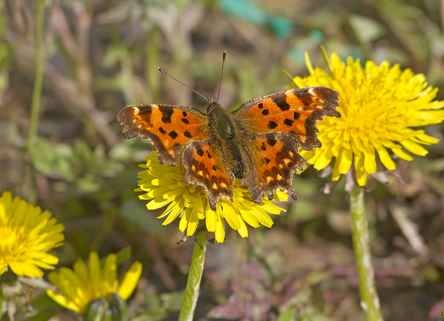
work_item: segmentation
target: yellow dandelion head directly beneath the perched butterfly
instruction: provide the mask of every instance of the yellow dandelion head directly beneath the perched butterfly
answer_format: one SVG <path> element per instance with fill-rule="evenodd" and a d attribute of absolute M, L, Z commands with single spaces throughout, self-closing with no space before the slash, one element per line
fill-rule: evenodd
<path fill-rule="evenodd" d="M 150 200 L 148 209 L 156 209 L 168 204 L 165 211 L 157 218 L 166 216 L 162 225 L 171 223 L 180 216 L 179 229 L 188 236 L 193 235 L 199 220 L 205 219 L 207 231 L 214 232 L 216 241 L 223 242 L 225 238 L 225 223 L 236 230 L 243 238 L 248 237 L 246 223 L 255 228 L 259 223 L 271 227 L 273 221 L 270 214 L 279 214 L 284 209 L 276 206 L 268 199 L 261 204 L 253 201 L 248 189 L 236 179 L 233 185 L 233 202 L 223 198 L 216 204 L 216 211 L 211 210 L 207 193 L 201 186 L 185 185 L 185 168 L 181 163 L 178 166 L 161 165 L 157 154 L 151 152 L 147 156 L 146 164 L 139 165 L 146 168 L 138 174 L 140 188 L 136 192 L 147 192 L 140 195 L 141 200 Z M 287 201 L 288 195 L 281 191 L 274 193 L 274 200 Z"/>

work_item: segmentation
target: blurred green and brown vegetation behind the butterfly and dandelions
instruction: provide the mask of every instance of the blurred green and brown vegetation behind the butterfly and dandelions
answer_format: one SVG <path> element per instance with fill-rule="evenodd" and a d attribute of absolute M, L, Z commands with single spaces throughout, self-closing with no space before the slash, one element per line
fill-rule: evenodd
<path fill-rule="evenodd" d="M 216 96 L 227 51 L 219 103 L 232 109 L 285 90 L 282 69 L 306 75 L 305 51 L 325 68 L 324 45 L 343 59 L 424 73 L 444 99 L 443 1 L 51 0 L 36 63 L 37 2 L 0 1 L 0 191 L 65 225 L 66 244 L 54 251 L 60 265 L 130 248 L 144 264 L 128 302 L 134 320 L 177 320 L 194 246 L 177 245 L 179 221 L 162 226 L 162 211 L 148 212 L 133 192 L 150 144 L 123 141 L 115 120 L 131 104 L 205 110 L 206 101 L 157 67 Z M 36 66 L 44 71 L 38 139 L 27 148 Z M 440 143 L 426 158 L 399 161 L 392 184 L 368 184 L 388 321 L 439 320 L 444 307 L 443 128 L 427 127 Z M 242 239 L 225 225 L 228 241 L 207 250 L 195 320 L 364 320 L 344 182 L 329 195 L 320 191 L 325 183 L 313 168 L 297 175 L 299 201 L 281 204 L 287 212 L 271 229 L 251 228 Z"/>

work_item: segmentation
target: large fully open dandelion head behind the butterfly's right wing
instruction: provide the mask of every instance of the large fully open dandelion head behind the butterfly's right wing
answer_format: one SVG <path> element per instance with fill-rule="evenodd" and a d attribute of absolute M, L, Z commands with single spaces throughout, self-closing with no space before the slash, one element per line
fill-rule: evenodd
<path fill-rule="evenodd" d="M 318 121 L 321 148 L 301 151 L 318 170 L 330 165 L 334 158 L 332 179 L 350 171 L 352 164 L 356 181 L 366 185 L 367 174 L 376 171 L 376 153 L 389 170 L 396 169 L 389 150 L 398 158 L 411 161 L 405 151 L 424 156 L 428 152 L 421 145 L 438 139 L 411 127 L 440 123 L 444 120 L 444 101 L 433 101 L 438 88 L 429 86 L 424 75 L 386 61 L 379 66 L 367 61 L 347 58 L 342 62 L 336 54 L 331 61 L 324 51 L 328 71 L 313 69 L 305 56 L 310 76 L 292 80 L 296 87 L 326 86 L 339 93 L 341 118 L 326 117 Z"/>

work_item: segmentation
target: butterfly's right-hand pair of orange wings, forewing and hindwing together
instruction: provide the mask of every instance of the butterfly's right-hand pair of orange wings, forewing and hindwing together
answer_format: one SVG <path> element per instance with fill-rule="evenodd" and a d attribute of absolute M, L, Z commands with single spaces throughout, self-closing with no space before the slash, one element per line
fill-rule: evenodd
<path fill-rule="evenodd" d="M 316 123 L 324 116 L 340 117 L 338 93 L 325 87 L 298 88 L 250 100 L 232 112 L 242 128 L 251 161 L 246 183 L 255 202 L 288 191 L 296 200 L 293 174 L 308 166 L 299 155 L 320 147 Z"/>

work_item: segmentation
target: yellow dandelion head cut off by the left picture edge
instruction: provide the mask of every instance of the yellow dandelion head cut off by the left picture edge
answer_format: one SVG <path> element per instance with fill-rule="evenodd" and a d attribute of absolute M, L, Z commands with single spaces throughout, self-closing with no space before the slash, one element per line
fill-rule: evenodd
<path fill-rule="evenodd" d="M 0 197 L 0 275 L 10 269 L 18 276 L 40 278 L 59 259 L 47 253 L 63 244 L 65 229 L 51 212 L 3 192 Z"/>

